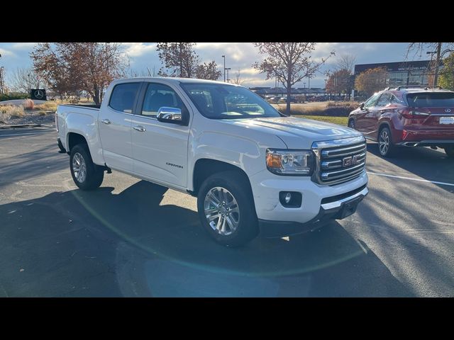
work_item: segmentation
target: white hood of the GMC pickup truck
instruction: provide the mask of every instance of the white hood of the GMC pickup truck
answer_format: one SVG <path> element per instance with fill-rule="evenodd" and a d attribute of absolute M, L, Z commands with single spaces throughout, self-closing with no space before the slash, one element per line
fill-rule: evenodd
<path fill-rule="evenodd" d="M 244 128 L 277 135 L 289 149 L 310 148 L 313 142 L 338 140 L 361 135 L 360 132 L 346 126 L 305 118 L 275 117 L 224 121 L 243 126 Z"/>

